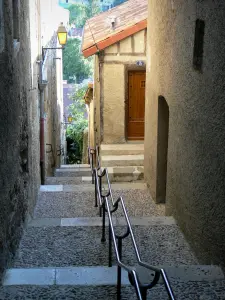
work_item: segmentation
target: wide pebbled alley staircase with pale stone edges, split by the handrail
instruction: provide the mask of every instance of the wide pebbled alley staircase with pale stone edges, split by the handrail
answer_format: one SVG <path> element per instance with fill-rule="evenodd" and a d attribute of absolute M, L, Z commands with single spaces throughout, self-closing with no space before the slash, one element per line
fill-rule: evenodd
<path fill-rule="evenodd" d="M 115 257 L 109 268 L 108 241 L 101 242 L 102 222 L 94 208 L 94 185 L 85 180 L 90 175 L 86 165 L 62 166 L 40 188 L 34 218 L 0 288 L 1 300 L 116 299 Z M 163 205 L 151 200 L 144 183 L 113 183 L 112 190 L 125 200 L 142 259 L 166 269 L 176 299 L 225 299 L 221 269 L 198 264 L 176 222 L 165 217 Z M 113 221 L 116 231 L 125 228 L 121 211 Z M 123 262 L 132 266 L 136 260 L 131 249 L 127 238 Z M 124 272 L 122 299 L 137 299 Z M 148 292 L 148 299 L 168 299 L 162 282 Z"/>

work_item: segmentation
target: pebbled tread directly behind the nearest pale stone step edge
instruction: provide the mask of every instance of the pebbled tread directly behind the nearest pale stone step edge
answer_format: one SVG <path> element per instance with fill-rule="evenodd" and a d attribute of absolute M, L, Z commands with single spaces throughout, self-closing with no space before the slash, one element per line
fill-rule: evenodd
<path fill-rule="evenodd" d="M 124 233 L 124 226 L 115 226 Z M 143 261 L 154 265 L 194 265 L 191 252 L 177 225 L 133 226 L 134 236 Z M 114 256 L 114 251 L 113 251 Z M 136 264 L 130 238 L 123 241 L 123 262 Z M 21 240 L 14 268 L 107 266 L 106 242 L 101 242 L 99 226 L 28 227 Z"/>

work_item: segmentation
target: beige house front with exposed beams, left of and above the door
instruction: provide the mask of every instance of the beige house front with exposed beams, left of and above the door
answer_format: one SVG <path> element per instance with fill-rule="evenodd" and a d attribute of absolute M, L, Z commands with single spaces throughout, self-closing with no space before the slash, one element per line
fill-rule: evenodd
<path fill-rule="evenodd" d="M 126 142 L 128 71 L 145 70 L 145 49 L 146 30 L 141 30 L 95 55 L 95 144 Z"/>

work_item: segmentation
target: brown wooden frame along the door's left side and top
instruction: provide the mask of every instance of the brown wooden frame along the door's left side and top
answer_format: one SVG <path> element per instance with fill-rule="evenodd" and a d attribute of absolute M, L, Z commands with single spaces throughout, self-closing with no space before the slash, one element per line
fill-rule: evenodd
<path fill-rule="evenodd" d="M 135 65 L 135 64 L 129 64 L 129 65 L 125 65 L 125 68 L 124 68 L 124 72 L 125 72 L 125 74 L 124 74 L 124 78 L 125 78 L 125 95 L 124 95 L 124 99 L 125 99 L 125 101 L 124 101 L 124 107 L 125 107 L 125 115 L 124 115 L 124 124 L 125 124 L 125 126 L 124 126 L 124 130 L 125 130 L 125 132 L 124 132 L 124 136 L 125 136 L 125 140 L 126 140 L 126 142 L 128 141 L 128 114 L 129 114 L 129 107 L 128 107 L 128 104 L 129 104 L 129 86 L 128 86 L 128 84 L 129 84 L 129 76 L 128 76 L 128 74 L 129 74 L 129 72 L 138 72 L 138 71 L 141 71 L 141 72 L 145 72 L 146 73 L 146 66 L 144 65 L 144 66 L 137 66 L 137 65 Z"/>

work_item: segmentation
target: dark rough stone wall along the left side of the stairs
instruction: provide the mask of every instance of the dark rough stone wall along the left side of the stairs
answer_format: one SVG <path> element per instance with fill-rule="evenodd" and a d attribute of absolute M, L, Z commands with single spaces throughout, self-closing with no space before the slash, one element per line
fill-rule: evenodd
<path fill-rule="evenodd" d="M 21 0 L 13 19 L 12 1 L 0 2 L 0 278 L 15 253 L 26 213 L 33 211 L 38 186 L 37 133 L 31 135 L 38 99 L 30 81 L 28 4 Z"/>

